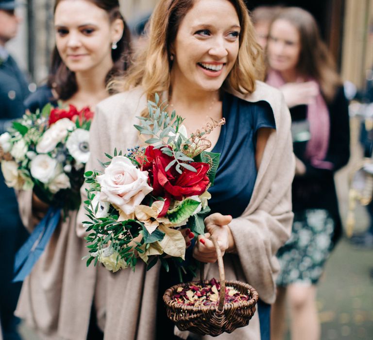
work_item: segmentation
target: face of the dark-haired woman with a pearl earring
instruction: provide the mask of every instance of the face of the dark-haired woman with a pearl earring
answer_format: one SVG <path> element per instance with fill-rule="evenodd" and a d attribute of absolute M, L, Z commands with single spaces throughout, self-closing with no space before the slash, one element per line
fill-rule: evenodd
<path fill-rule="evenodd" d="M 113 29 L 107 13 L 85 0 L 63 0 L 54 14 L 56 46 L 73 72 L 111 67 Z"/>

